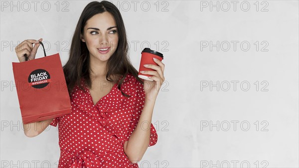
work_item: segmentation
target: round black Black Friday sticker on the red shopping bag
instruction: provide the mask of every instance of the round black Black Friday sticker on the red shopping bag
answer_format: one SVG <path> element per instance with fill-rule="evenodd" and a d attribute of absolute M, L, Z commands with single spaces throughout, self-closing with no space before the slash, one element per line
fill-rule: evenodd
<path fill-rule="evenodd" d="M 50 82 L 50 74 L 44 69 L 36 69 L 30 73 L 28 82 L 36 89 L 44 88 Z"/>

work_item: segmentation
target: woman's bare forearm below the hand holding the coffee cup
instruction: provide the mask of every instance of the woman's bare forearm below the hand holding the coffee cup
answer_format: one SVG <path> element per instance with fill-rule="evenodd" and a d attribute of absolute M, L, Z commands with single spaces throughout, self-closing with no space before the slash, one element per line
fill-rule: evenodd
<path fill-rule="evenodd" d="M 149 147 L 150 126 L 154 103 L 154 101 L 145 100 L 137 127 L 128 141 L 125 152 L 130 161 L 139 162 Z"/>

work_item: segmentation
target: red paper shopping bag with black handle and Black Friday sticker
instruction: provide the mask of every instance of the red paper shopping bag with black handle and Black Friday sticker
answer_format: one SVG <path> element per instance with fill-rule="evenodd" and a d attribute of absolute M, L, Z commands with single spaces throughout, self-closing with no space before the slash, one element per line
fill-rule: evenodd
<path fill-rule="evenodd" d="M 43 43 L 40 41 L 43 49 Z M 23 124 L 71 113 L 71 102 L 59 53 L 12 62 Z M 27 59 L 26 59 L 27 60 Z"/>

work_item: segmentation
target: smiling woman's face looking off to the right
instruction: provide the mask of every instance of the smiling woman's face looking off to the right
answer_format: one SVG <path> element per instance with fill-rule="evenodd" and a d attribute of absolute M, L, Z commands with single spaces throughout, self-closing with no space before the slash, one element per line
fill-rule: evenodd
<path fill-rule="evenodd" d="M 91 61 L 107 61 L 116 51 L 118 45 L 118 30 L 116 22 L 109 12 L 96 14 L 87 20 L 84 36 Z"/>

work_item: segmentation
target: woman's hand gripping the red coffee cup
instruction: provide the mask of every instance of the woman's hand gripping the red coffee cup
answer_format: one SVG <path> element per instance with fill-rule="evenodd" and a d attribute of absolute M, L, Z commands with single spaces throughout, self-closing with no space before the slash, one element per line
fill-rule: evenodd
<path fill-rule="evenodd" d="M 151 75 L 149 79 L 152 79 L 153 81 L 144 80 L 144 90 L 146 93 L 146 99 L 155 101 L 161 85 L 165 80 L 163 74 L 165 65 L 158 59 L 153 59 L 153 61 L 158 65 L 148 64 L 148 66 L 145 66 L 153 69 L 153 71 L 141 71 L 141 73 Z"/>

